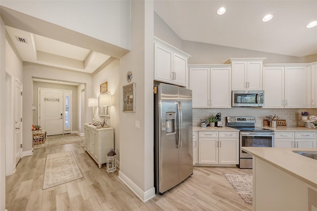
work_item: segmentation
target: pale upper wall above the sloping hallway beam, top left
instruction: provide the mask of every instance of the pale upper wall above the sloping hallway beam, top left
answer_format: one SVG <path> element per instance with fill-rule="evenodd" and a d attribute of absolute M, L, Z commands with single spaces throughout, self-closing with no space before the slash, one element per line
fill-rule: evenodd
<path fill-rule="evenodd" d="M 130 49 L 129 0 L 1 0 L 1 5 Z"/>

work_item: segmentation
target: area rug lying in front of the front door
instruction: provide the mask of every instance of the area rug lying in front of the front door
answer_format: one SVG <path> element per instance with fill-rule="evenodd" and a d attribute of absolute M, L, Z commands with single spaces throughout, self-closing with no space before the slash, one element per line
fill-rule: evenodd
<path fill-rule="evenodd" d="M 84 141 L 84 136 L 79 136 L 75 133 L 64 134 L 64 135 L 54 135 L 54 136 L 48 136 L 44 144 L 36 144 L 33 146 L 33 148 L 36 150 L 36 149 L 40 149 L 44 147 L 53 147 L 53 146 L 72 144 L 72 143 L 78 143 L 83 141 Z"/>

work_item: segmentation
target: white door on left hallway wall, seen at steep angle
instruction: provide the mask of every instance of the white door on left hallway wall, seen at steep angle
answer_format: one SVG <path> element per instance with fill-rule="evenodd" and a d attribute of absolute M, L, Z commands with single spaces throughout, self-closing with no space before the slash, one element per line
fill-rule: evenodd
<path fill-rule="evenodd" d="M 14 120 L 15 120 L 15 136 L 14 136 L 14 164 L 22 158 L 22 84 L 19 80 L 15 80 L 14 88 Z"/>

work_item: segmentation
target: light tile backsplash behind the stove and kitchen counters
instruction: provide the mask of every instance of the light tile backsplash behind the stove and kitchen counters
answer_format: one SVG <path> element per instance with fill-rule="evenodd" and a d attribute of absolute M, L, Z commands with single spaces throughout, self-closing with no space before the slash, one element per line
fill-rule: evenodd
<path fill-rule="evenodd" d="M 193 126 L 200 126 L 200 119 L 220 112 L 221 121 L 225 123 L 226 116 L 255 116 L 256 126 L 263 127 L 265 116 L 276 114 L 279 119 L 285 119 L 287 127 L 305 127 L 305 122 L 300 122 L 301 112 L 308 111 L 310 115 L 317 116 L 317 108 L 261 108 L 261 107 L 232 107 L 232 108 L 193 108 Z"/>

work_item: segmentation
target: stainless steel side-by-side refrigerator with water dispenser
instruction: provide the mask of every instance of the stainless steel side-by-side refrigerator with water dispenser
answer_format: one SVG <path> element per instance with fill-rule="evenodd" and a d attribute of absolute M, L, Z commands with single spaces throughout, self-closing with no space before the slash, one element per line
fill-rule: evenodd
<path fill-rule="evenodd" d="M 154 87 L 156 193 L 193 174 L 192 91 L 168 84 Z"/>

